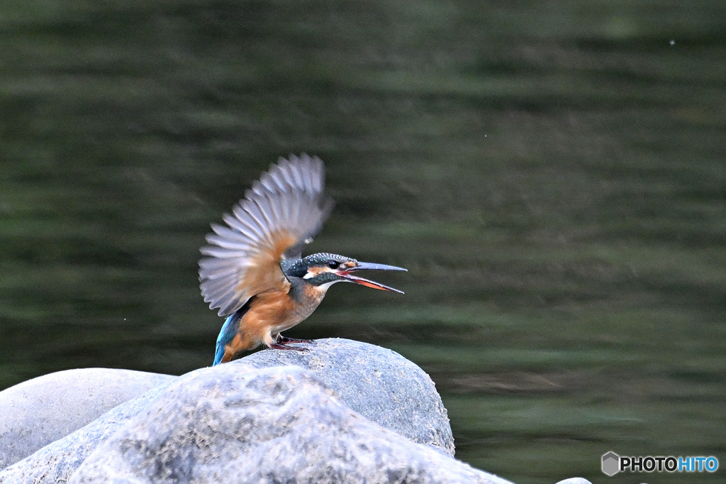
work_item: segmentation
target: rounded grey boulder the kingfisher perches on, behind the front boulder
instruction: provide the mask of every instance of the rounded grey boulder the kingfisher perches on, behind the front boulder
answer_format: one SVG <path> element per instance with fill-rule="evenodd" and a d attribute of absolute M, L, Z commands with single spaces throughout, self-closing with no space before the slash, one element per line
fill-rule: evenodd
<path fill-rule="evenodd" d="M 245 363 L 258 368 L 293 364 L 309 368 L 347 406 L 373 422 L 439 452 L 454 453 L 446 409 L 421 368 L 391 350 L 347 339 L 323 339 L 307 347 L 309 352 L 265 350 L 216 368 L 240 366 L 237 371 L 248 372 Z M 67 481 L 86 456 L 143 411 L 159 390 L 123 403 L 68 437 L 4 469 L 0 472 L 0 483 Z"/>

